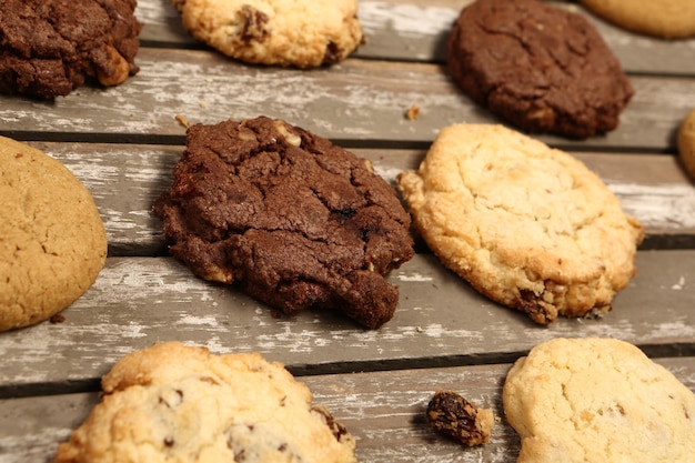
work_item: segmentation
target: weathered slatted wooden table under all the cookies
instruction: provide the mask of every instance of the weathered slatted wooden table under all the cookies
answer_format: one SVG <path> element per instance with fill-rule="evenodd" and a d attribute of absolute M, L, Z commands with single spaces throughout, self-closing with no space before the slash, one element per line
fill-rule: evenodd
<path fill-rule="evenodd" d="M 50 461 L 97 403 L 100 376 L 157 341 L 283 362 L 356 436 L 362 462 L 513 462 L 520 442 L 501 387 L 515 359 L 552 338 L 629 341 L 695 390 L 695 188 L 675 155 L 678 123 L 695 108 L 695 40 L 654 40 L 590 17 L 636 94 L 604 137 L 540 137 L 595 170 L 646 228 L 638 274 L 603 319 L 535 325 L 479 295 L 424 248 L 390 274 L 400 306 L 377 331 L 313 311 L 276 319 L 167 255 L 150 210 L 182 151 L 177 115 L 191 123 L 281 118 L 369 158 L 390 182 L 420 163 L 440 128 L 495 122 L 442 66 L 451 23 L 467 3 L 364 0 L 369 42 L 338 66 L 301 71 L 225 59 L 190 39 L 168 0 L 140 0 L 137 77 L 54 102 L 1 97 L 0 133 L 56 157 L 90 189 L 109 258 L 62 323 L 0 333 L 0 462 Z M 587 14 L 573 2 L 558 6 Z M 417 119 L 404 117 L 411 107 Z M 494 409 L 490 444 L 464 449 L 427 427 L 424 409 L 439 389 Z"/>

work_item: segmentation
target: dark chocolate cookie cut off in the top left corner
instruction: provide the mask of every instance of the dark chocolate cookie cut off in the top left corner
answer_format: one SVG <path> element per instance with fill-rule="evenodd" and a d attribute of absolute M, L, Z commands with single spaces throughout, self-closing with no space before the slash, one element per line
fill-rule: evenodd
<path fill-rule="evenodd" d="M 50 99 L 138 72 L 135 0 L 3 0 L 0 92 Z"/>

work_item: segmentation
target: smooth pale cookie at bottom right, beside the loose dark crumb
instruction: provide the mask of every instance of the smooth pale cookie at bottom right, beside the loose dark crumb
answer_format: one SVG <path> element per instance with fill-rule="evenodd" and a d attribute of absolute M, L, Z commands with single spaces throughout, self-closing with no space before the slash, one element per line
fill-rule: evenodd
<path fill-rule="evenodd" d="M 686 463 L 695 394 L 636 346 L 555 339 L 507 373 L 502 401 L 522 440 L 518 463 Z"/>

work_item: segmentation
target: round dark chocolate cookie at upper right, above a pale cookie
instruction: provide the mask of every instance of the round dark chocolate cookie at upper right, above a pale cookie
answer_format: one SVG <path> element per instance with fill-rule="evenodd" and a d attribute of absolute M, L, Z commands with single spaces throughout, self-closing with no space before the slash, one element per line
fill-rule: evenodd
<path fill-rule="evenodd" d="M 586 19 L 537 0 L 464 8 L 447 67 L 474 102 L 516 128 L 572 139 L 615 129 L 634 93 Z"/>

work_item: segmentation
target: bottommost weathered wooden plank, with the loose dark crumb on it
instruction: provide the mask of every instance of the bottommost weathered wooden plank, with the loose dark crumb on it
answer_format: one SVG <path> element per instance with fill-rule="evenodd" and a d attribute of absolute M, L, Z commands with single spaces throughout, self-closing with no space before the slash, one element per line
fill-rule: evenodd
<path fill-rule="evenodd" d="M 695 391 L 692 358 L 656 359 Z M 502 385 L 508 364 L 304 376 L 314 403 L 331 410 L 355 436 L 362 463 L 512 462 L 520 442 L 504 419 Z M 465 449 L 432 431 L 426 404 L 454 390 L 497 416 L 491 442 Z M 97 393 L 0 400 L 0 461 L 50 462 L 58 444 L 98 403 Z"/>

